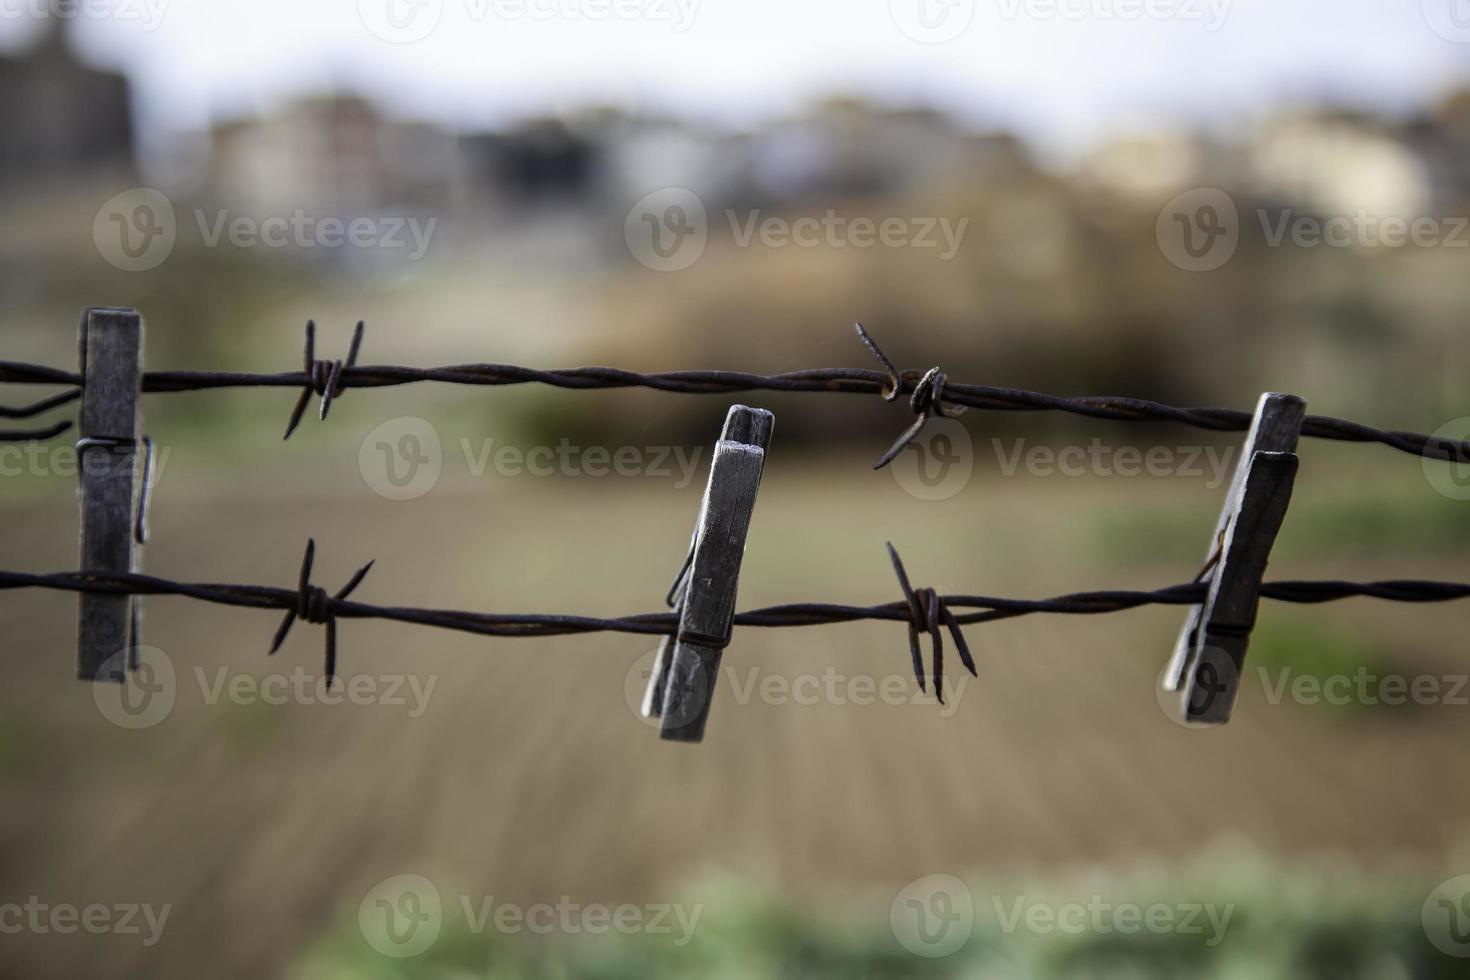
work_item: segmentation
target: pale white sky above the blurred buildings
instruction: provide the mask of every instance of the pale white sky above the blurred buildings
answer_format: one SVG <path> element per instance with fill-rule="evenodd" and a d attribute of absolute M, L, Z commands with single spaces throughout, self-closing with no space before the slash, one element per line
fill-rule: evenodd
<path fill-rule="evenodd" d="M 35 29 L 38 4 L 72 1 L 0 0 L 0 47 Z M 428 4 L 417 10 L 428 21 L 410 25 L 438 12 L 428 37 L 395 44 L 366 26 L 387 4 L 413 1 Z M 589 101 L 741 123 L 847 91 L 932 101 L 1066 156 L 1133 122 L 1229 125 L 1273 103 L 1322 98 L 1404 107 L 1470 76 L 1470 0 L 79 3 L 84 54 L 125 69 L 146 119 L 166 128 L 331 85 L 469 126 Z M 650 16 L 592 19 L 575 13 L 584 3 Z M 957 4 L 939 21 L 951 29 L 972 7 L 973 18 L 954 40 L 922 44 L 891 9 L 901 18 L 916 3 L 936 18 Z M 682 31 L 670 21 L 676 4 L 694 4 Z M 1129 4 L 1176 16 L 1125 18 Z M 1457 31 L 1463 41 L 1444 35 Z"/>

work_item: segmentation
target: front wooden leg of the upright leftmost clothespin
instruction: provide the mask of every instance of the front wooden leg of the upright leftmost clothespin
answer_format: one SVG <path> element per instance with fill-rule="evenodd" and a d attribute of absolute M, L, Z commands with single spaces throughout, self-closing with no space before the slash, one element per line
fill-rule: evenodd
<path fill-rule="evenodd" d="M 82 572 L 143 569 L 143 317 L 134 310 L 91 307 L 79 331 L 82 373 L 81 479 Z M 141 598 L 82 592 L 78 599 L 76 676 L 123 679 L 135 664 Z M 119 657 L 126 651 L 125 657 Z"/>

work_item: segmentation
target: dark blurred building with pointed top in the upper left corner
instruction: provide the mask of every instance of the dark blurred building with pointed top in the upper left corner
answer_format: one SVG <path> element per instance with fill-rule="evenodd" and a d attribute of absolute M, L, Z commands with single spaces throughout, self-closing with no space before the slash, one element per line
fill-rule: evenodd
<path fill-rule="evenodd" d="M 132 165 L 128 79 L 82 65 L 60 19 L 0 57 L 0 181 L 68 178 Z"/>

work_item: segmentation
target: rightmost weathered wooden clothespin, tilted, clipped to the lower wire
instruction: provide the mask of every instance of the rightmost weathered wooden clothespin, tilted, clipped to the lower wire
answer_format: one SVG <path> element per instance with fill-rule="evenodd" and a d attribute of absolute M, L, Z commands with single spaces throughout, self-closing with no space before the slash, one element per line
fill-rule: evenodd
<path fill-rule="evenodd" d="M 1261 577 L 1297 480 L 1297 438 L 1305 414 L 1307 403 L 1297 395 L 1266 392 L 1255 406 L 1200 573 L 1210 591 L 1202 605 L 1189 610 L 1163 677 L 1164 689 L 1179 695 L 1186 723 L 1230 720 L 1255 627 Z"/>

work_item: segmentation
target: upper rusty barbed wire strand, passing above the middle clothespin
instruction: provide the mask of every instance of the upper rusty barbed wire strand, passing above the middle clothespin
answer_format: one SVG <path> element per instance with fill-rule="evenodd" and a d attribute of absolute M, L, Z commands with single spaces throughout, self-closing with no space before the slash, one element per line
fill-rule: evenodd
<path fill-rule="evenodd" d="M 1176 407 L 1147 398 L 1119 395 L 1060 397 L 1020 388 L 997 388 L 950 381 L 938 367 L 928 370 L 900 370 L 882 353 L 861 323 L 854 325 L 858 338 L 882 363 L 883 370 L 863 367 L 814 367 L 784 372 L 779 375 L 753 375 L 732 370 L 675 370 L 639 373 L 617 367 L 570 367 L 538 370 L 514 364 L 453 364 L 447 367 L 403 367 L 388 364 L 357 364 L 362 345 L 363 323 L 353 332 L 350 354 L 345 360 L 318 360 L 315 356 L 315 322 L 306 328 L 304 369 L 281 373 L 162 370 L 143 375 L 146 392 L 210 391 L 218 388 L 300 388 L 301 394 L 293 408 L 285 435 L 290 436 L 300 420 L 310 395 L 320 398 L 319 416 L 325 417 L 332 401 L 350 388 L 390 388 L 419 382 L 450 385 L 504 386 L 504 385 L 550 385 L 578 391 L 604 388 L 648 388 L 653 391 L 689 395 L 726 395 L 750 391 L 775 392 L 823 392 L 847 395 L 879 395 L 892 401 L 910 395 L 910 408 L 917 416 L 888 453 L 879 460 L 882 467 L 892 460 L 923 429 L 925 422 L 944 414 L 945 406 L 953 413 L 964 408 L 986 411 L 1064 411 L 1089 419 L 1113 422 L 1176 422 L 1213 432 L 1244 432 L 1251 426 L 1252 414 L 1238 408 Z M 76 372 L 60 370 L 43 364 L 0 361 L 0 383 L 24 385 L 69 385 L 60 392 L 32 406 L 0 408 L 0 417 L 28 419 L 57 408 L 81 397 L 82 378 Z M 50 438 L 69 428 L 38 430 L 34 433 L 7 433 L 6 438 Z M 1376 429 L 1347 419 L 1332 416 L 1307 416 L 1301 433 L 1319 439 L 1341 442 L 1377 442 L 1391 448 L 1427 458 L 1470 463 L 1470 442 L 1445 439 L 1419 432 Z M 876 469 L 876 467 L 875 467 Z"/>

